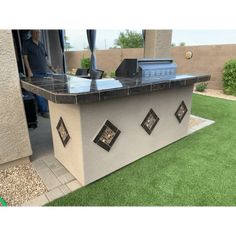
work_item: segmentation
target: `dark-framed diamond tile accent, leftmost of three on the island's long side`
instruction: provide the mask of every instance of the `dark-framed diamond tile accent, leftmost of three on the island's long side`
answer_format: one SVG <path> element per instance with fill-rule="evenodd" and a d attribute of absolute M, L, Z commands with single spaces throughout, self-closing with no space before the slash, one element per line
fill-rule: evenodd
<path fill-rule="evenodd" d="M 107 120 L 93 141 L 109 152 L 119 135 L 120 130 Z"/>

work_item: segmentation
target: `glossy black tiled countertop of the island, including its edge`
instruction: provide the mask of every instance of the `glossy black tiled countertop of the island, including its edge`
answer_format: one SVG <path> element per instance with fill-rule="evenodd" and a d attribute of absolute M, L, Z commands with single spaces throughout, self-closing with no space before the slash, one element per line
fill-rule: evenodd
<path fill-rule="evenodd" d="M 205 74 L 184 74 L 168 80 L 161 78 L 91 80 L 70 75 L 53 75 L 45 78 L 25 78 L 21 80 L 21 86 L 55 103 L 81 104 L 190 86 L 208 81 L 210 77 Z"/>

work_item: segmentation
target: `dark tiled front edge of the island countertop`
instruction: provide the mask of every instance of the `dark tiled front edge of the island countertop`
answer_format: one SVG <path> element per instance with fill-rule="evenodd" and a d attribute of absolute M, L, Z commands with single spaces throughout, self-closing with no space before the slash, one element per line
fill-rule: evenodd
<path fill-rule="evenodd" d="M 187 74 L 188 76 L 191 74 Z M 187 76 L 186 75 L 186 76 Z M 210 80 L 209 74 L 191 75 L 192 77 L 181 79 L 168 79 L 163 81 L 154 81 L 150 83 L 137 84 L 133 86 L 126 85 L 121 88 L 108 88 L 91 92 L 65 93 L 54 92 L 35 85 L 29 81 L 21 80 L 21 87 L 27 91 L 45 97 L 47 100 L 59 104 L 84 104 L 92 102 L 101 102 L 113 98 L 121 98 L 138 94 L 158 92 L 160 90 L 191 86 L 194 83 L 206 82 Z M 121 79 L 122 80 L 122 79 Z M 120 80 L 120 81 L 121 81 Z"/>

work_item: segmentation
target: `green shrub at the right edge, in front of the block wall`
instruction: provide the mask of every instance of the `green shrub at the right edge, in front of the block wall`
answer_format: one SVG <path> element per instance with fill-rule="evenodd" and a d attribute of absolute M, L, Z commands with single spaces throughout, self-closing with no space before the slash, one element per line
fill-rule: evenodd
<path fill-rule="evenodd" d="M 236 59 L 225 63 L 223 70 L 224 93 L 236 96 Z"/>

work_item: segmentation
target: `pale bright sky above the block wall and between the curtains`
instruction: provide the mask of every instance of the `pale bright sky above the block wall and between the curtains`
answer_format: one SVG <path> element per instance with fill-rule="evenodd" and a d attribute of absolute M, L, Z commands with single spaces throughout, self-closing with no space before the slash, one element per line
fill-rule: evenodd
<path fill-rule="evenodd" d="M 142 32 L 140 29 L 132 29 Z M 114 40 L 124 30 L 97 30 L 97 49 L 108 49 L 114 46 Z M 66 35 L 73 46 L 72 50 L 82 50 L 88 46 L 86 30 L 66 30 Z M 235 44 L 236 30 L 173 30 L 172 42 L 178 45 Z"/>

